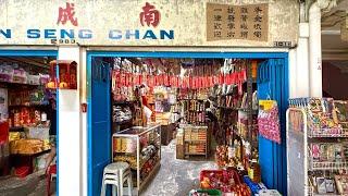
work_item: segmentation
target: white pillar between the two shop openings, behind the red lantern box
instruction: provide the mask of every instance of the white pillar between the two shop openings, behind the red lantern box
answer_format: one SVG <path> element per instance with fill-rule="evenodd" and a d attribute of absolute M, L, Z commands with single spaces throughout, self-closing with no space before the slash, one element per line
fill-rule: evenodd
<path fill-rule="evenodd" d="M 58 60 L 73 60 L 80 66 L 78 47 L 59 47 Z M 79 73 L 77 68 L 77 82 Z M 78 82 L 79 83 L 79 82 Z M 77 84 L 78 86 L 78 84 Z M 79 89 L 59 90 L 58 177 L 59 195 L 82 195 L 82 131 Z"/>

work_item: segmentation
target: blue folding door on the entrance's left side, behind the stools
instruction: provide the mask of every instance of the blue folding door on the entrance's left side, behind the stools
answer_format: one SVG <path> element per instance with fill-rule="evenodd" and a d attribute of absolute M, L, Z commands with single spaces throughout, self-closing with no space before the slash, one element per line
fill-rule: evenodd
<path fill-rule="evenodd" d="M 103 168 L 111 162 L 110 64 L 89 56 L 87 68 L 88 195 L 95 196 L 100 195 Z"/>

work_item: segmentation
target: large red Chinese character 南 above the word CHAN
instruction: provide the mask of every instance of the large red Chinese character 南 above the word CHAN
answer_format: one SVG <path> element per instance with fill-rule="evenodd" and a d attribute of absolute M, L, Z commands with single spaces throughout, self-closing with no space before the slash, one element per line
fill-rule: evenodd
<path fill-rule="evenodd" d="M 160 23 L 161 14 L 158 10 L 156 10 L 154 5 L 146 2 L 145 7 L 142 7 L 142 12 L 140 13 L 140 23 L 144 26 L 146 25 L 157 27 Z"/>

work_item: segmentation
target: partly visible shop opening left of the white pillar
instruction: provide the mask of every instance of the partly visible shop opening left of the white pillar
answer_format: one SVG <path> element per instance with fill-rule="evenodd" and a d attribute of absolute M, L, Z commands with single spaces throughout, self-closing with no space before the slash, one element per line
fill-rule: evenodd
<path fill-rule="evenodd" d="M 0 50 L 0 195 L 48 194 L 41 175 L 58 163 L 58 96 L 48 85 L 57 56 Z M 54 181 L 49 183 L 57 193 Z"/>

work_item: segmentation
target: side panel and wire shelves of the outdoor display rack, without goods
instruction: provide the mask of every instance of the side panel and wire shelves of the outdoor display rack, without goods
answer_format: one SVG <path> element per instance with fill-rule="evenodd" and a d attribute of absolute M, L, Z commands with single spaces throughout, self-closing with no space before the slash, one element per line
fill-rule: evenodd
<path fill-rule="evenodd" d="M 345 143 L 347 130 L 313 128 L 309 122 L 311 118 L 302 108 L 289 108 L 286 118 L 288 195 L 340 195 L 337 191 L 319 194 L 311 179 L 315 172 L 332 177 L 338 171 L 347 171 L 348 162 L 345 158 L 325 161 L 315 159 L 311 145 Z"/>

